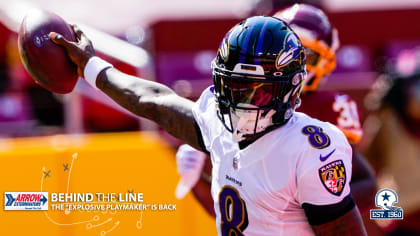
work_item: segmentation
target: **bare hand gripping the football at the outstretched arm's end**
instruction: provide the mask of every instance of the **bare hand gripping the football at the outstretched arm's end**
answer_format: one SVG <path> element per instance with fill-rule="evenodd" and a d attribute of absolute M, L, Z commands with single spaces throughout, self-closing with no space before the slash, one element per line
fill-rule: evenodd
<path fill-rule="evenodd" d="M 49 37 L 52 42 L 63 47 L 67 55 L 77 66 L 77 73 L 79 76 L 84 77 L 83 71 L 89 58 L 95 56 L 92 42 L 76 25 L 70 25 L 76 35 L 77 42 L 70 42 L 65 39 L 61 34 L 51 32 Z"/>

